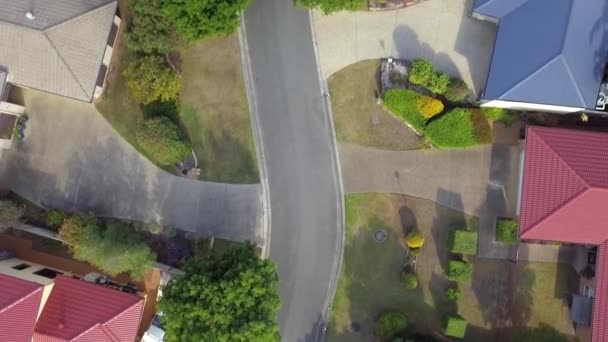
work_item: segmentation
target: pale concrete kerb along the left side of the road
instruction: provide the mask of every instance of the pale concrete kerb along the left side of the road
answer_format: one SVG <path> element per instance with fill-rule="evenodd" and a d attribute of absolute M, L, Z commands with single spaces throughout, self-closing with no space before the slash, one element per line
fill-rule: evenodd
<path fill-rule="evenodd" d="M 262 228 L 262 255 L 266 259 L 270 255 L 270 233 L 271 233 L 271 217 L 272 210 L 270 207 L 270 190 L 268 187 L 268 171 L 266 170 L 266 157 L 264 153 L 264 144 L 262 143 L 262 124 L 258 115 L 256 102 L 255 88 L 253 86 L 253 77 L 251 72 L 251 62 L 249 59 L 249 45 L 247 44 L 247 30 L 245 27 L 245 13 L 241 11 L 241 25 L 239 27 L 239 45 L 241 51 L 241 64 L 243 69 L 243 78 L 245 81 L 245 90 L 247 93 L 247 101 L 249 102 L 249 112 L 251 117 L 251 126 L 253 127 L 254 140 L 256 146 L 256 154 L 258 161 L 258 172 L 260 174 L 260 185 L 262 189 L 261 202 L 261 228 Z"/>

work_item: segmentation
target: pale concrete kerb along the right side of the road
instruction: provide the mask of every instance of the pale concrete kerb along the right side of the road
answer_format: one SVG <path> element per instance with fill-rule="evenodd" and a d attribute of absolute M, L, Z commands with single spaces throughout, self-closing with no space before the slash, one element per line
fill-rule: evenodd
<path fill-rule="evenodd" d="M 313 49 L 315 52 L 315 61 L 317 64 L 317 73 L 319 75 L 319 83 L 321 86 L 321 89 L 323 90 L 324 94 L 323 94 L 323 109 L 325 111 L 325 119 L 328 122 L 328 127 L 330 130 L 330 135 L 332 138 L 332 151 L 333 153 L 332 155 L 332 159 L 334 159 L 332 165 L 334 165 L 334 179 L 335 179 L 335 184 L 337 186 L 336 192 L 338 194 L 338 203 L 337 203 L 337 207 L 338 210 L 340 210 L 340 213 L 338 213 L 337 217 L 338 217 L 338 222 L 337 222 L 337 229 L 338 229 L 338 239 L 337 239 L 337 243 L 336 243 L 336 249 L 335 249 L 335 253 L 338 256 L 335 260 L 334 260 L 334 264 L 333 264 L 333 274 L 331 276 L 330 282 L 329 282 L 329 290 L 328 293 L 329 295 L 326 298 L 325 301 L 325 308 L 323 310 L 323 314 L 322 314 L 322 326 L 321 326 L 321 331 L 320 331 L 320 336 L 319 336 L 319 340 L 324 340 L 325 339 L 325 332 L 327 330 L 327 319 L 329 317 L 329 314 L 331 312 L 331 303 L 333 302 L 333 299 L 336 295 L 336 290 L 337 290 L 337 285 L 338 285 L 338 280 L 340 278 L 340 272 L 342 269 L 342 259 L 344 257 L 344 243 L 345 243 L 345 220 L 346 220 L 346 213 L 345 213 L 345 208 L 344 208 L 344 183 L 342 181 L 342 166 L 340 165 L 340 155 L 339 155 L 339 150 L 338 150 L 338 139 L 336 138 L 336 130 L 334 127 L 334 119 L 333 119 L 333 115 L 331 112 L 331 99 L 329 96 L 325 96 L 325 94 L 329 94 L 329 87 L 327 85 L 327 81 L 323 75 L 323 72 L 321 70 L 321 64 L 320 64 L 320 60 L 319 60 L 319 51 L 318 51 L 318 47 L 317 47 L 317 36 L 316 36 L 316 32 L 315 32 L 315 23 L 314 23 L 314 16 L 312 11 L 308 11 L 308 18 L 310 20 L 310 32 L 311 32 L 311 38 L 312 38 L 312 43 L 313 43 Z"/>

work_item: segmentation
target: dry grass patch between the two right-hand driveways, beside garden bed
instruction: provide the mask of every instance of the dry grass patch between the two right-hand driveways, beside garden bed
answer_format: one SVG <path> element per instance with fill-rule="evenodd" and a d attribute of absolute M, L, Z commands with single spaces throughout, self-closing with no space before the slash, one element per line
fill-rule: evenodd
<path fill-rule="evenodd" d="M 380 60 L 366 60 L 329 77 L 337 139 L 389 150 L 420 148 L 421 139 L 376 103 L 379 68 Z"/>

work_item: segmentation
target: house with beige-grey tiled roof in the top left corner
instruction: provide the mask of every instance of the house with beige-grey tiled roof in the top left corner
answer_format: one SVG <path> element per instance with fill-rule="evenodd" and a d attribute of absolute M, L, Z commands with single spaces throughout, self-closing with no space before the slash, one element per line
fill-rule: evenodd
<path fill-rule="evenodd" d="M 7 84 L 91 102 L 120 25 L 115 0 L 0 0 L 0 101 Z"/>

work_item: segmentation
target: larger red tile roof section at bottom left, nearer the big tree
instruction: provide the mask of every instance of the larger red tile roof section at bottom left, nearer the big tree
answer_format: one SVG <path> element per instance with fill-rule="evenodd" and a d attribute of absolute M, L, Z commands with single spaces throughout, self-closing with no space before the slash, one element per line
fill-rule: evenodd
<path fill-rule="evenodd" d="M 140 297 L 58 276 L 33 341 L 132 342 L 142 309 Z"/>

